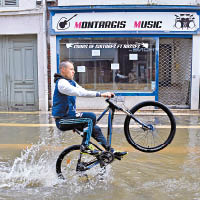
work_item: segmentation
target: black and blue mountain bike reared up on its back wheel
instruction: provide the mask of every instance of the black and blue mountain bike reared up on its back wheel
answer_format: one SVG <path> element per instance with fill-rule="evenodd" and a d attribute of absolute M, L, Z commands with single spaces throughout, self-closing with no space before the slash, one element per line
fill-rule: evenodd
<path fill-rule="evenodd" d="M 106 99 L 106 102 L 108 107 L 99 116 L 97 123 L 109 112 L 108 148 L 102 150 L 98 145 L 90 142 L 99 151 L 97 155 L 81 153 L 81 145 L 73 145 L 64 149 L 56 162 L 56 172 L 59 178 L 66 179 L 70 175 L 70 171 L 73 176 L 77 172 L 85 172 L 95 166 L 105 169 L 115 159 L 121 160 L 121 158 L 115 157 L 111 151 L 112 123 L 116 110 L 127 115 L 124 121 L 124 134 L 128 143 L 135 149 L 147 153 L 157 152 L 172 142 L 176 132 L 176 121 L 172 112 L 164 104 L 156 101 L 144 101 L 129 110 L 115 104 L 111 99 Z M 153 112 L 153 115 L 148 114 L 149 110 Z M 75 131 L 82 134 L 78 130 Z"/>

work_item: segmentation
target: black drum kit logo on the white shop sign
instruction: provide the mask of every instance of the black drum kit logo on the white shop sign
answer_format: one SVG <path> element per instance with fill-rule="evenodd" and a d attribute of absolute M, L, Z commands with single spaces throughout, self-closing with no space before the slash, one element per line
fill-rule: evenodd
<path fill-rule="evenodd" d="M 177 29 L 193 29 L 196 25 L 194 22 L 194 16 L 192 14 L 180 14 L 175 15 L 175 24 L 174 27 Z"/>

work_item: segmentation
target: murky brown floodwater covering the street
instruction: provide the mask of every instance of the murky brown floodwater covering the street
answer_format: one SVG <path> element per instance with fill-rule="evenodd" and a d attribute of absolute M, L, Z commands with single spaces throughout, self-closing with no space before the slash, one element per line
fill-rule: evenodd
<path fill-rule="evenodd" d="M 128 156 L 114 161 L 101 178 L 63 181 L 56 159 L 80 137 L 58 131 L 45 113 L 0 113 L 0 200 L 200 200 L 200 116 L 175 117 L 177 132 L 164 150 L 139 152 L 122 127 L 114 128 L 112 144 Z M 114 124 L 123 120 L 119 115 Z"/>

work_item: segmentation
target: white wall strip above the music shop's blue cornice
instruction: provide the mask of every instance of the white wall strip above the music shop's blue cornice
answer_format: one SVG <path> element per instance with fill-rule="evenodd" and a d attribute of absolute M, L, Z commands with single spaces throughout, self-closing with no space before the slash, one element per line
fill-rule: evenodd
<path fill-rule="evenodd" d="M 58 0 L 58 6 L 72 5 L 197 5 L 200 0 Z"/>

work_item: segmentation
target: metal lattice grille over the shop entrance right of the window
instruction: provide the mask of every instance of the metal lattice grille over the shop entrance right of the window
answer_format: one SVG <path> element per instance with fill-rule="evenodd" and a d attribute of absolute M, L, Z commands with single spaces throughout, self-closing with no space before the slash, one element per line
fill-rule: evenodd
<path fill-rule="evenodd" d="M 191 66 L 192 39 L 160 39 L 159 101 L 189 107 Z"/>

